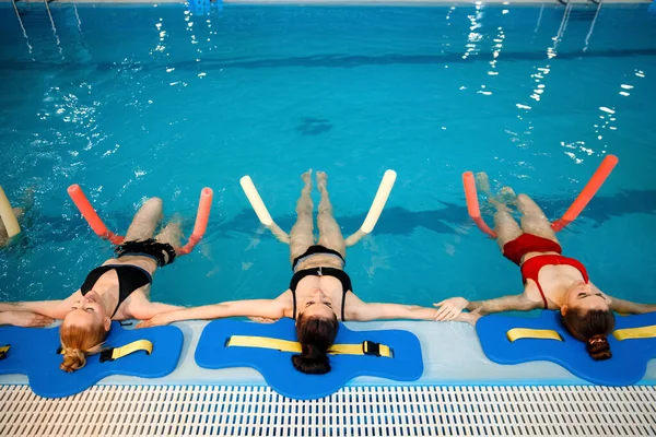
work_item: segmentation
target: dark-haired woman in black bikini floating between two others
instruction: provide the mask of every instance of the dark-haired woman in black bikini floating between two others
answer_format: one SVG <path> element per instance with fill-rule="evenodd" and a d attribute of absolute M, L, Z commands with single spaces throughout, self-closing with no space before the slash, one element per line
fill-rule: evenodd
<path fill-rule="evenodd" d="M 366 304 L 354 293 L 344 272 L 347 245 L 332 216 L 327 176 L 317 172 L 321 194 L 317 225 L 319 240 L 315 245 L 313 224 L 312 172 L 301 176 L 304 187 L 296 203 L 297 221 L 290 234 L 292 276 L 290 287 L 276 299 L 224 302 L 161 314 L 141 322 L 138 328 L 167 324 L 189 319 L 250 317 L 270 321 L 289 317 L 296 320 L 301 355 L 292 356 L 294 367 L 306 374 L 330 371 L 327 351 L 335 342 L 338 319 L 415 319 L 434 320 L 436 310 L 413 305 Z"/>

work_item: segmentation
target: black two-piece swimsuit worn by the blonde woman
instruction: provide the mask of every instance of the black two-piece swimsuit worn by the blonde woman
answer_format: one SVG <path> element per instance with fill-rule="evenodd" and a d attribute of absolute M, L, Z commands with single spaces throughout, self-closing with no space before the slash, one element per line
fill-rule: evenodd
<path fill-rule="evenodd" d="M 116 258 L 125 256 L 137 256 L 148 257 L 155 262 L 157 265 L 164 267 L 171 264 L 175 260 L 175 249 L 167 243 L 157 243 L 154 239 L 147 239 L 143 241 L 126 241 L 120 246 L 117 246 L 114 250 Z M 130 264 L 107 264 L 101 265 L 93 269 L 84 280 L 84 283 L 80 287 L 82 296 L 93 290 L 93 286 L 98 282 L 101 276 L 110 270 L 116 271 L 118 276 L 118 303 L 112 314 L 112 317 L 116 315 L 120 304 L 122 304 L 134 291 L 141 288 L 144 285 L 153 283 L 153 276 L 144 269 L 138 265 Z"/>

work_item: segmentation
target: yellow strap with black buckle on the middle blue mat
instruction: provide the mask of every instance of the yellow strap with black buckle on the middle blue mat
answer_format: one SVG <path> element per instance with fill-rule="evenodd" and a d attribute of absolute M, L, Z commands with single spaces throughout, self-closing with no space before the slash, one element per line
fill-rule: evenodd
<path fill-rule="evenodd" d="M 261 347 L 280 352 L 301 353 L 301 343 L 269 336 L 232 335 L 225 342 L 225 346 Z M 394 352 L 389 346 L 371 341 L 356 344 L 333 344 L 328 353 L 331 355 L 376 355 L 394 358 Z"/>

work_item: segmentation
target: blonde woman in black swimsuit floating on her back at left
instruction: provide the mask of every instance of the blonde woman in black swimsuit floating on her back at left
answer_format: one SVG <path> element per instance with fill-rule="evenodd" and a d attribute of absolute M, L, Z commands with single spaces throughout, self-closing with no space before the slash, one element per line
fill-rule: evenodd
<path fill-rule="evenodd" d="M 40 317 L 33 326 L 61 319 L 61 369 L 70 373 L 84 367 L 87 355 L 101 352 L 112 320 L 151 319 L 178 309 L 149 300 L 153 273 L 157 267 L 171 264 L 180 247 L 177 221 L 152 238 L 161 220 L 162 200 L 149 199 L 134 215 L 125 243 L 116 247 L 116 258 L 92 270 L 80 290 L 63 300 L 0 303 L 0 323 L 24 326 L 20 321 L 25 317 L 14 317 L 21 312 Z M 8 314 L 12 317 L 3 318 Z"/>

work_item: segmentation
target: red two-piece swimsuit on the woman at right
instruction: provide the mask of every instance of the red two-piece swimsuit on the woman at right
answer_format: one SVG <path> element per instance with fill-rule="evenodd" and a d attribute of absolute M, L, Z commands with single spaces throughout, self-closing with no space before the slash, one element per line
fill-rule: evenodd
<path fill-rule="evenodd" d="M 544 296 L 540 281 L 538 281 L 540 270 L 544 265 L 572 265 L 581 272 L 586 283 L 589 282 L 585 267 L 573 258 L 566 258 L 561 255 L 539 255 L 522 263 L 522 258 L 528 252 L 562 253 L 562 248 L 555 241 L 532 234 L 522 234 L 503 246 L 503 256 L 517 265 L 522 265 L 522 280 L 524 283 L 526 283 L 526 280 L 532 280 L 538 285 L 540 296 L 542 296 L 542 302 L 544 303 L 544 309 L 548 308 L 547 297 Z"/>

